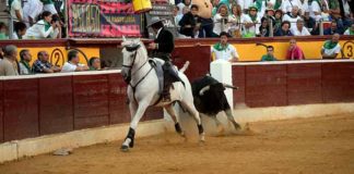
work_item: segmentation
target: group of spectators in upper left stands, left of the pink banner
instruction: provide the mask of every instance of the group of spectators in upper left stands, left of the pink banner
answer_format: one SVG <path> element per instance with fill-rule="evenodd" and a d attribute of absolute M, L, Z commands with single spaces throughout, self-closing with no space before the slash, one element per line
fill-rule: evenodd
<path fill-rule="evenodd" d="M 62 9 L 54 0 L 9 0 L 9 13 L 13 30 L 0 22 L 0 39 L 61 38 L 63 33 Z"/>

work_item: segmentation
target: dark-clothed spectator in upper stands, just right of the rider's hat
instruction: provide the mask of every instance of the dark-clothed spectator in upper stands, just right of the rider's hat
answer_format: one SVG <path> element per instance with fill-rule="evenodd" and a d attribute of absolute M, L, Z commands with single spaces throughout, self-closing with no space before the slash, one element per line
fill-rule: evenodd
<path fill-rule="evenodd" d="M 200 18 L 198 16 L 198 5 L 192 4 L 190 12 L 186 13 L 179 21 L 180 34 L 194 38 L 200 27 Z"/>

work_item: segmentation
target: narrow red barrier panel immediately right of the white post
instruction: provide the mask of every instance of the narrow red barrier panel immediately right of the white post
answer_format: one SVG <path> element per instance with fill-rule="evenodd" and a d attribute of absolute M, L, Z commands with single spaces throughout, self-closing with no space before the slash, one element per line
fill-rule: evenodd
<path fill-rule="evenodd" d="M 245 103 L 246 100 L 246 71 L 245 66 L 233 66 L 233 85 L 238 87 L 238 90 L 234 90 L 234 107 L 237 103 Z"/>

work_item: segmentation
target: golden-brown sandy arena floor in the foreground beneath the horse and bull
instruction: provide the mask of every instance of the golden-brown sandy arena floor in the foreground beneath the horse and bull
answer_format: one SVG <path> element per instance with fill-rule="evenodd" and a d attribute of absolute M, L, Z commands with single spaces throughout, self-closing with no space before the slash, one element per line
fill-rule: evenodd
<path fill-rule="evenodd" d="M 184 141 L 176 134 L 43 154 L 0 165 L 0 174 L 353 174 L 354 114 L 251 123 L 251 132 Z"/>

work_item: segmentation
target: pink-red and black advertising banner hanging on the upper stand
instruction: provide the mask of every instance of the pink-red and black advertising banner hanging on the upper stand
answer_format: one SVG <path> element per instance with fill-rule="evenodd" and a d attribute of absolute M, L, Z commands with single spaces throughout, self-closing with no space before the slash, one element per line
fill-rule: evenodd
<path fill-rule="evenodd" d="M 132 3 L 111 0 L 69 0 L 70 37 L 141 36 L 141 15 Z"/>

